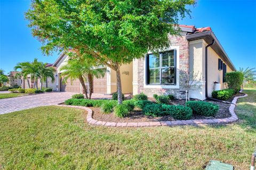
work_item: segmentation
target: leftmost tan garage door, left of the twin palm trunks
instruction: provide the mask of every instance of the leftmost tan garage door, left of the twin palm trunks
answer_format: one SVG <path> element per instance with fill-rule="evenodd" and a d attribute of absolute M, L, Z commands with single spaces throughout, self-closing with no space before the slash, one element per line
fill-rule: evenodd
<path fill-rule="evenodd" d="M 62 82 L 62 77 L 60 78 L 60 91 L 61 92 L 76 92 L 80 93 L 80 82 L 78 79 L 73 80 L 71 83 L 71 80 L 68 79 L 66 83 Z"/>

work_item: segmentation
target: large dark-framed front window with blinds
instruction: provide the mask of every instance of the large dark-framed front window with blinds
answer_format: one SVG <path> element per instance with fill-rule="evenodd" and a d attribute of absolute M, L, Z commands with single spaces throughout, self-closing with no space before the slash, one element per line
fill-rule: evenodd
<path fill-rule="evenodd" d="M 175 51 L 147 55 L 147 84 L 176 85 Z"/>

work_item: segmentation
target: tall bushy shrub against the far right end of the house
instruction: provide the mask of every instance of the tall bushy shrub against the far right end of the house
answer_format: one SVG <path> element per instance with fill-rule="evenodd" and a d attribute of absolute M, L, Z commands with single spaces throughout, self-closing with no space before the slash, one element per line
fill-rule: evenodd
<path fill-rule="evenodd" d="M 228 84 L 228 88 L 233 88 L 235 90 L 235 93 L 238 93 L 241 88 L 241 85 L 243 84 L 242 72 L 227 72 L 225 79 Z"/>

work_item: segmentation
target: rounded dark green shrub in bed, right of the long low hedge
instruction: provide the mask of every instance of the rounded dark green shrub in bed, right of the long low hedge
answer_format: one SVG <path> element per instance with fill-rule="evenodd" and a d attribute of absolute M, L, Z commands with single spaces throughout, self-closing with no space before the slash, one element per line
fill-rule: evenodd
<path fill-rule="evenodd" d="M 219 111 L 217 104 L 204 102 L 204 101 L 188 101 L 186 106 L 193 110 L 193 114 L 203 116 L 215 116 Z"/>

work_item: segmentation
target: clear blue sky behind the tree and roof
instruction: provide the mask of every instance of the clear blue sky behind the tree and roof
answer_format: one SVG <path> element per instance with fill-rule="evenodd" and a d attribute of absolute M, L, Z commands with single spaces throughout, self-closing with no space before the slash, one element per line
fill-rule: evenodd
<path fill-rule="evenodd" d="M 0 0 L 0 68 L 5 73 L 22 61 L 53 63 L 58 53 L 45 56 L 31 36 L 24 13 L 29 0 Z M 256 67 L 256 1 L 197 1 L 183 25 L 210 26 L 235 67 Z"/>

